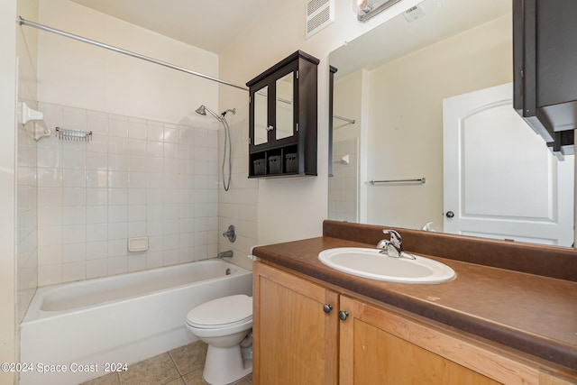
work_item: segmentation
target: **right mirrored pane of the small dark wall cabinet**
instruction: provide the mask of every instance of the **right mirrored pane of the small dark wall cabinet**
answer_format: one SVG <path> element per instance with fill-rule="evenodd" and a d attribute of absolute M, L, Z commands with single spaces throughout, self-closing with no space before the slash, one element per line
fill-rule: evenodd
<path fill-rule="evenodd" d="M 275 139 L 279 140 L 294 135 L 294 72 L 277 79 L 276 87 L 277 126 L 275 127 Z"/>

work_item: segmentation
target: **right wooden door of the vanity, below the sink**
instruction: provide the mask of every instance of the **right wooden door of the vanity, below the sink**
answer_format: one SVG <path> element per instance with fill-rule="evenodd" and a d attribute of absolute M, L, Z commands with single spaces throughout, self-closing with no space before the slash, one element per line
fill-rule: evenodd
<path fill-rule="evenodd" d="M 352 298 L 340 308 L 341 385 L 536 383 L 536 371 L 454 335 Z"/>

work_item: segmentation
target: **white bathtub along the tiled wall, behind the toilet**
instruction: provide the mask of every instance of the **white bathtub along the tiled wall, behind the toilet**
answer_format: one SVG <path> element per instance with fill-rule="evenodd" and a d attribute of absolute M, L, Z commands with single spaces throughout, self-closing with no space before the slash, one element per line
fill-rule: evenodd
<path fill-rule="evenodd" d="M 188 311 L 232 294 L 252 295 L 252 272 L 221 260 L 39 288 L 20 329 L 20 383 L 78 384 L 124 371 L 195 341 Z"/>

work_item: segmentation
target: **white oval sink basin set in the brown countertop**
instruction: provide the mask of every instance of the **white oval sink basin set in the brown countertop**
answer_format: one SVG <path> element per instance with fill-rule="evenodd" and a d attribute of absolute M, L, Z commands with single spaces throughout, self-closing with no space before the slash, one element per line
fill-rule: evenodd
<path fill-rule="evenodd" d="M 320 252 L 318 259 L 334 270 L 371 280 L 441 283 L 455 277 L 454 270 L 444 263 L 410 255 L 415 259 L 389 257 L 378 249 L 339 247 Z"/>

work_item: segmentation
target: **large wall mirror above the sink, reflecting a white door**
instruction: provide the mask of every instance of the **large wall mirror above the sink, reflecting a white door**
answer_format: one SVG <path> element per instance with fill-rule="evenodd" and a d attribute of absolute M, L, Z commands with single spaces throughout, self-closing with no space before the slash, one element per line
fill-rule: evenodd
<path fill-rule="evenodd" d="M 455 119 L 463 123 L 456 128 L 456 139 L 444 134 L 450 125 L 446 116 L 453 116 L 447 113 L 453 99 L 484 95 L 512 82 L 511 10 L 510 0 L 425 0 L 331 52 L 330 65 L 337 72 L 330 219 L 572 246 L 574 156 L 556 160 L 544 141 L 542 146 L 535 143 L 536 134 L 527 124 L 518 125 L 522 120 L 501 99 L 498 104 L 487 102 L 495 108 L 483 107 L 483 114 Z M 506 116 L 496 120 L 494 114 L 501 111 Z M 480 116 L 498 124 L 514 121 L 506 125 L 514 125 L 515 134 L 501 133 L 492 123 L 479 124 Z M 467 132 L 468 127 L 474 128 Z M 479 127 L 491 130 L 479 132 Z M 538 148 L 530 161 L 538 160 L 540 166 L 528 166 L 529 160 L 517 156 L 527 152 L 526 141 Z M 459 145 L 478 151 L 463 152 Z M 479 160 L 472 161 L 473 152 Z M 456 171 L 445 167 L 449 160 Z M 472 165 L 474 178 L 464 174 L 463 165 Z M 451 184 L 447 175 L 462 179 Z M 519 190 L 534 195 L 537 183 L 545 199 L 539 201 L 542 207 L 517 207 L 527 200 Z M 447 185 L 457 186 L 457 192 Z M 508 201 L 494 197 L 501 190 L 507 191 Z M 447 199 L 455 194 L 452 206 Z M 497 205 L 517 211 L 499 216 L 509 210 Z M 491 217 L 477 212 L 479 207 L 490 207 Z M 529 217 L 537 211 L 538 218 Z M 455 229 L 457 219 L 466 224 Z M 481 230 L 466 228 L 472 219 L 481 223 Z M 545 226 L 537 226 L 533 235 L 513 234 L 527 222 Z M 556 234 L 561 231 L 563 236 Z"/>

